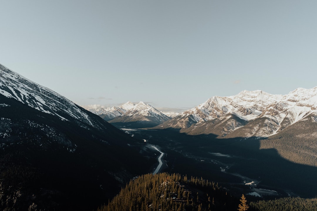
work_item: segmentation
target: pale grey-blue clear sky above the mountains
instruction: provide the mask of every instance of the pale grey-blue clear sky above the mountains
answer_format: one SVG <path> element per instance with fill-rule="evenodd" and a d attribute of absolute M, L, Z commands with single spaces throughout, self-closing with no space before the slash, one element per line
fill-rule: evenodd
<path fill-rule="evenodd" d="M 2 1 L 0 63 L 81 105 L 317 86 L 315 0 Z"/>

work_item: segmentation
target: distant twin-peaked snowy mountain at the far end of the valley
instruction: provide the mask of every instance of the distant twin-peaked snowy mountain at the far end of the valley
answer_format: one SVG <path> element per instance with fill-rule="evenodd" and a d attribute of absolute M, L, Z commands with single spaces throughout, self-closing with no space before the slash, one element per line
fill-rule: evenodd
<path fill-rule="evenodd" d="M 89 109 L 89 111 L 99 115 L 106 121 L 122 126 L 133 124 L 134 127 L 153 127 L 171 119 L 142 101 L 137 104 L 128 101 L 111 109 L 98 108 Z"/>

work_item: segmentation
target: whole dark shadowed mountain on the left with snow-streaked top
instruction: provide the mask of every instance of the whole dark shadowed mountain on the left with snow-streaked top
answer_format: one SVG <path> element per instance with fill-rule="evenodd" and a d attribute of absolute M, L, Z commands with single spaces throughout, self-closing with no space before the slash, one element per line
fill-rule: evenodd
<path fill-rule="evenodd" d="M 93 210 L 151 171 L 137 142 L 0 65 L 0 210 Z"/>

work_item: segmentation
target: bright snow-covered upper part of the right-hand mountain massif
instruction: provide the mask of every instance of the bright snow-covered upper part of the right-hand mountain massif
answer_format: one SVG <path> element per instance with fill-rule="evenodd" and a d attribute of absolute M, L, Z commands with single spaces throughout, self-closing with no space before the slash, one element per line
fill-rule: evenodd
<path fill-rule="evenodd" d="M 214 96 L 197 107 L 182 112 L 177 117 L 193 115 L 198 122 L 213 120 L 231 113 L 249 121 L 260 115 L 272 116 L 269 111 L 276 105 L 282 107 L 281 111 L 294 109 L 297 114 L 294 121 L 298 121 L 316 109 L 317 87 L 313 89 L 298 88 L 287 95 L 272 95 L 261 90 L 244 90 L 234 96 Z"/>

